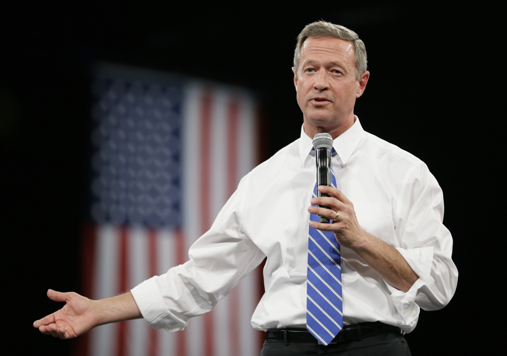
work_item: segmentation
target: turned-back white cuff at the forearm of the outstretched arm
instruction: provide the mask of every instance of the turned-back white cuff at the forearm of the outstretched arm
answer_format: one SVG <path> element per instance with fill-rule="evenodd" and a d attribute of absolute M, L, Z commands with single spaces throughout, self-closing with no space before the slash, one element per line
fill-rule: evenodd
<path fill-rule="evenodd" d="M 179 319 L 165 305 L 158 288 L 157 276 L 146 280 L 130 290 L 144 320 L 154 329 L 170 332 L 185 329 L 188 321 Z"/>

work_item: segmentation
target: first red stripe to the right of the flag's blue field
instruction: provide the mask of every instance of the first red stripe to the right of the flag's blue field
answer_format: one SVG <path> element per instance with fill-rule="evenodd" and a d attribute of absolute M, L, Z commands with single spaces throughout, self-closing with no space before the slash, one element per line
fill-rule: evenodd
<path fill-rule="evenodd" d="M 205 89 L 201 108 L 201 234 L 211 225 L 210 218 L 211 91 Z M 213 356 L 213 314 L 204 314 L 204 354 Z"/>

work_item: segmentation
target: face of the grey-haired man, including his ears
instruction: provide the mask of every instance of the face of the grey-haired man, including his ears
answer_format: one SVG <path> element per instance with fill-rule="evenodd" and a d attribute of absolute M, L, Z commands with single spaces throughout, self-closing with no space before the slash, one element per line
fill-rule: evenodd
<path fill-rule="evenodd" d="M 298 72 L 293 71 L 305 123 L 333 129 L 353 120 L 355 99 L 363 94 L 369 72 L 356 80 L 351 42 L 308 37 L 301 48 Z"/>

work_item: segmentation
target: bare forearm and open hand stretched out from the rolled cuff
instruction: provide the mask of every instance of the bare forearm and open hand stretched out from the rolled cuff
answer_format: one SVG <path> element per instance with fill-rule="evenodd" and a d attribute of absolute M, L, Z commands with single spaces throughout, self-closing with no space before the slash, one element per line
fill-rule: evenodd
<path fill-rule="evenodd" d="M 96 326 L 140 319 L 141 312 L 130 292 L 112 298 L 91 300 L 74 292 L 48 290 L 51 300 L 65 302 L 60 310 L 33 323 L 43 334 L 71 339 Z"/>

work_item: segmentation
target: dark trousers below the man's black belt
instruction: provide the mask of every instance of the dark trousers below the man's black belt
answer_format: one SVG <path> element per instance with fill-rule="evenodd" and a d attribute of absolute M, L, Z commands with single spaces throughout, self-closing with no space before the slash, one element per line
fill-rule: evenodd
<path fill-rule="evenodd" d="M 411 356 L 403 335 L 380 334 L 359 341 L 318 345 L 313 342 L 289 342 L 266 340 L 259 356 Z"/>

